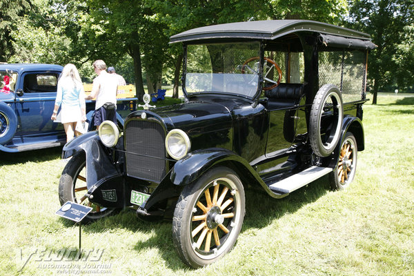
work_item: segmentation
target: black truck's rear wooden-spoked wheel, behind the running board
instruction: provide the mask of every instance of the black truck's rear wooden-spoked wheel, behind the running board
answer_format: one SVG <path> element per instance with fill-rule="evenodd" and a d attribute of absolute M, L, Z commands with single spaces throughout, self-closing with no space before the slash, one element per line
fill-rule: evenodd
<path fill-rule="evenodd" d="M 357 152 L 357 140 L 351 132 L 346 132 L 342 139 L 338 164 L 329 174 L 333 190 L 344 190 L 353 181 L 357 170 Z"/>

